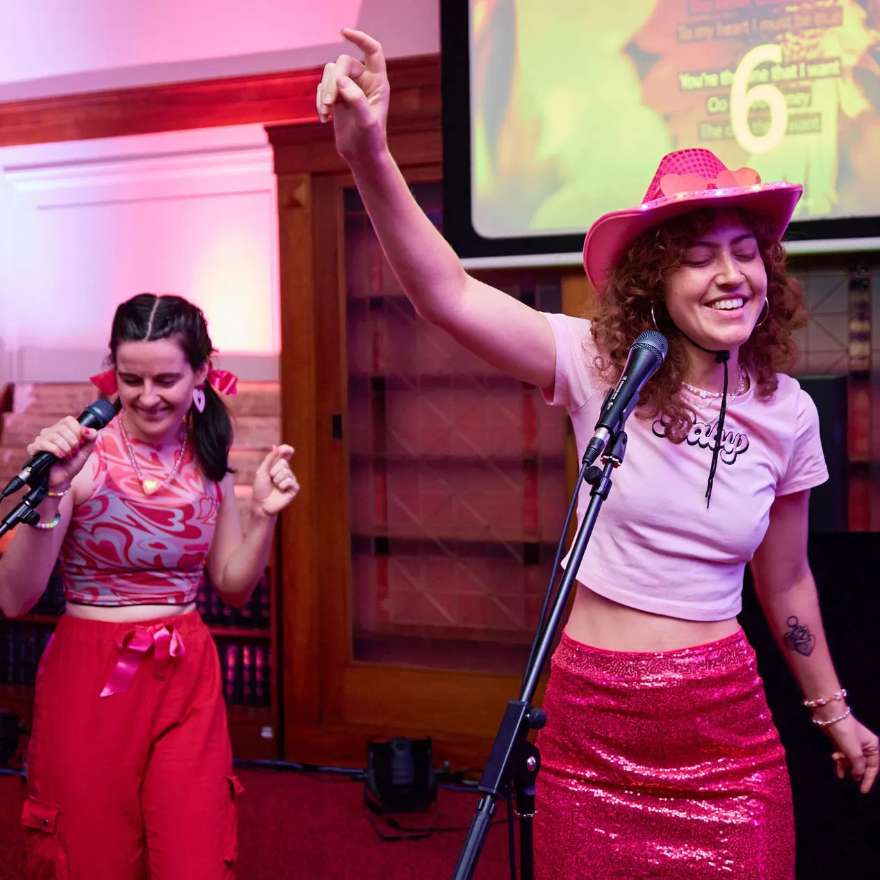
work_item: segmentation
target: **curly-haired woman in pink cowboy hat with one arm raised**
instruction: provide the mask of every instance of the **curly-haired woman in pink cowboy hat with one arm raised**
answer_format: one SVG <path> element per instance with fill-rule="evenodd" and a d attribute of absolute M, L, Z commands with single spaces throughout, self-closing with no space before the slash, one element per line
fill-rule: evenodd
<path fill-rule="evenodd" d="M 790 880 L 785 756 L 737 623 L 751 561 L 766 619 L 862 792 L 877 737 L 834 671 L 806 556 L 810 488 L 827 478 L 818 415 L 784 375 L 802 318 L 783 231 L 801 194 L 708 150 L 665 157 L 642 205 L 593 224 L 592 322 L 535 312 L 474 280 L 418 208 L 385 143 L 382 49 L 327 64 L 317 107 L 423 318 L 565 406 L 583 453 L 643 331 L 669 339 L 627 422 L 627 461 L 578 570 L 539 747 L 541 877 Z M 585 494 L 582 494 L 582 510 Z"/>

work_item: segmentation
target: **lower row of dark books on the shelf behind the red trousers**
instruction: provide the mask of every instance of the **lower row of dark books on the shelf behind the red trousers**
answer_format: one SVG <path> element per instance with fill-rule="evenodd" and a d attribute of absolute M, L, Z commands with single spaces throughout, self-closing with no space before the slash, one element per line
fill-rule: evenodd
<path fill-rule="evenodd" d="M 0 621 L 0 684 L 33 685 L 52 631 Z M 239 706 L 271 704 L 272 654 L 267 644 L 228 642 L 217 646 L 224 697 Z"/>

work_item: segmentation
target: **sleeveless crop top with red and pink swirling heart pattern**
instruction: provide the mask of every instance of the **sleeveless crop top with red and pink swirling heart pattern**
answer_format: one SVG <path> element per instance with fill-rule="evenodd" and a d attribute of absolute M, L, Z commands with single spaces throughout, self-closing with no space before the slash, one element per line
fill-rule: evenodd
<path fill-rule="evenodd" d="M 64 595 L 82 605 L 182 605 L 202 582 L 220 486 L 192 444 L 174 479 L 146 495 L 122 441 L 120 420 L 101 431 L 92 494 L 73 510 L 61 549 Z M 164 480 L 180 453 L 129 436 L 144 477 Z"/>

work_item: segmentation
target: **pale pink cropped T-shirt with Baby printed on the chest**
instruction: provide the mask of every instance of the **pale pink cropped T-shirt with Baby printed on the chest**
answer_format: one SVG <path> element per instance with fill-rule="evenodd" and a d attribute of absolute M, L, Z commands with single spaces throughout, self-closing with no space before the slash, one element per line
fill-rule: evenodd
<path fill-rule="evenodd" d="M 590 322 L 547 314 L 556 339 L 554 387 L 546 400 L 568 408 L 578 455 L 593 434 L 609 383 L 593 368 Z M 752 384 L 729 398 L 707 510 L 706 482 L 719 398 L 689 401 L 697 422 L 673 444 L 656 420 L 627 420 L 627 451 L 590 537 L 577 580 L 621 605 L 683 620 L 727 620 L 742 609 L 743 571 L 758 548 L 777 495 L 828 479 L 818 413 L 795 379 L 780 375 L 771 400 Z M 590 502 L 582 489 L 580 521 Z M 563 565 L 568 563 L 568 557 Z"/>

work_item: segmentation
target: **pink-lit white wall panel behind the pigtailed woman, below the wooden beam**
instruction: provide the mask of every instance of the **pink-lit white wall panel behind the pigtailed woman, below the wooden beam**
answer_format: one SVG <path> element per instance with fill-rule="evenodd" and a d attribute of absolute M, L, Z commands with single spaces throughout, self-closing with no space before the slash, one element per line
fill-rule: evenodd
<path fill-rule="evenodd" d="M 261 126 L 9 147 L 0 171 L 0 384 L 84 381 L 116 305 L 143 291 L 193 300 L 228 365 L 275 378 L 277 202 Z"/>

